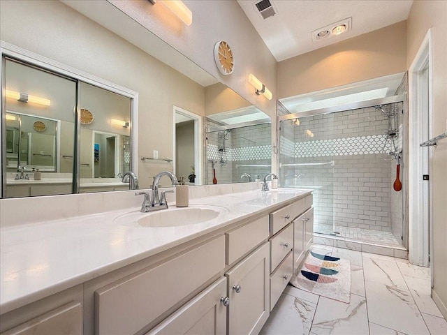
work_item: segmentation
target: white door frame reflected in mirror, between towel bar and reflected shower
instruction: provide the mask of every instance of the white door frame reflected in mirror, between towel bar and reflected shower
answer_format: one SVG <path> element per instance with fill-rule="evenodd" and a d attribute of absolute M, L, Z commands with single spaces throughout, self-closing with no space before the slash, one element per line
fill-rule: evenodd
<path fill-rule="evenodd" d="M 202 176 L 202 161 L 203 161 L 203 117 L 200 117 L 198 114 L 194 114 L 193 112 L 189 112 L 189 110 L 184 110 L 181 107 L 173 106 L 173 172 L 175 171 L 175 150 L 176 150 L 176 141 L 175 141 L 175 116 L 176 114 L 182 114 L 185 117 L 189 117 L 194 121 L 194 173 L 196 174 L 195 185 L 203 185 L 203 176 Z"/>

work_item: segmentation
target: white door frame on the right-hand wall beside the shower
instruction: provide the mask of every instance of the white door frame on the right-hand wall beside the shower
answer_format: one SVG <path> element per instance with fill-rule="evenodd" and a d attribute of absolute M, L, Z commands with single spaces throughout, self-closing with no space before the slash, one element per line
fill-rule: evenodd
<path fill-rule="evenodd" d="M 432 181 L 423 181 L 423 174 L 431 170 L 432 147 L 419 144 L 432 135 L 432 78 L 432 30 L 428 29 L 409 67 L 409 262 L 424 267 L 432 263 L 429 255 L 433 257 Z"/>

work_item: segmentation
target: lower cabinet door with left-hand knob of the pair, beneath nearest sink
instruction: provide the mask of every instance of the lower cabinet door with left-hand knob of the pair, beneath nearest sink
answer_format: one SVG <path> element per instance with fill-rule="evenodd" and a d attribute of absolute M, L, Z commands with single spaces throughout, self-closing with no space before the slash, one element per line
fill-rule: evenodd
<path fill-rule="evenodd" d="M 226 278 L 212 284 L 146 335 L 226 334 Z"/>

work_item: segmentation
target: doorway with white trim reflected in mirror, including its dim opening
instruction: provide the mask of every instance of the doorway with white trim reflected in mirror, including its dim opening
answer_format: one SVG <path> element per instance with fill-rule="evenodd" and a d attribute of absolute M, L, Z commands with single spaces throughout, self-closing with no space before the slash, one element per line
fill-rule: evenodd
<path fill-rule="evenodd" d="M 202 117 L 174 106 L 174 174 L 185 184 L 202 184 Z"/>

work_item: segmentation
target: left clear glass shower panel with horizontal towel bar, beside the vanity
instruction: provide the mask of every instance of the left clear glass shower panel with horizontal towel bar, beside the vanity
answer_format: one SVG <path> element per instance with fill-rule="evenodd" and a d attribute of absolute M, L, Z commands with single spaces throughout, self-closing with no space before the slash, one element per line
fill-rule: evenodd
<path fill-rule="evenodd" d="M 336 235 L 332 114 L 279 121 L 279 181 L 282 187 L 312 189 L 314 232 Z"/>

